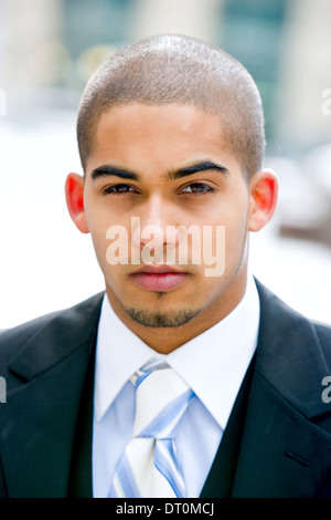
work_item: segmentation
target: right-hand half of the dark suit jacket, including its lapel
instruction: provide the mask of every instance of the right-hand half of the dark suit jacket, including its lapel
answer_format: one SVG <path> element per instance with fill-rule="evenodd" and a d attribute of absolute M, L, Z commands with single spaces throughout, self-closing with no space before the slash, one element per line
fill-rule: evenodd
<path fill-rule="evenodd" d="M 313 497 L 331 467 L 331 406 L 321 399 L 329 367 L 313 326 L 257 287 L 260 330 L 233 487 L 222 495 L 231 477 L 222 441 L 202 496 Z"/>

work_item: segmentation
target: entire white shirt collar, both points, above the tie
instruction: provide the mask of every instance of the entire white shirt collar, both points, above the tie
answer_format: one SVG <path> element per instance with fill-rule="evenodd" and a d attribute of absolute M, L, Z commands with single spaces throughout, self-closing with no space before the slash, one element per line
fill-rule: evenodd
<path fill-rule="evenodd" d="M 151 357 L 166 357 L 224 429 L 257 344 L 259 298 L 253 277 L 239 304 L 221 322 L 168 355 L 156 353 L 114 312 L 105 294 L 98 325 L 95 419 Z"/>

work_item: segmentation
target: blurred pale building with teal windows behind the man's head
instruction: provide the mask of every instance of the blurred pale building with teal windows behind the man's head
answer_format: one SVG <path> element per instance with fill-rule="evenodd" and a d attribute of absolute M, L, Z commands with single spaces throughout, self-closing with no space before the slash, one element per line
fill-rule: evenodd
<path fill-rule="evenodd" d="M 115 49 L 146 35 L 215 43 L 260 89 L 271 150 L 330 142 L 329 0 L 1 0 L 0 89 L 9 116 L 75 107 L 87 77 Z"/>

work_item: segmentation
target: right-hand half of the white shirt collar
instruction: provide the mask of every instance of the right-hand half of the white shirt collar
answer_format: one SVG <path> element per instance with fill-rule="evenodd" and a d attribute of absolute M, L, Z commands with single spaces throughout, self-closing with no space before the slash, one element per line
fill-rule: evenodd
<path fill-rule="evenodd" d="M 168 363 L 188 382 L 225 429 L 257 345 L 259 298 L 253 277 L 244 298 L 222 321 L 168 354 Z"/>

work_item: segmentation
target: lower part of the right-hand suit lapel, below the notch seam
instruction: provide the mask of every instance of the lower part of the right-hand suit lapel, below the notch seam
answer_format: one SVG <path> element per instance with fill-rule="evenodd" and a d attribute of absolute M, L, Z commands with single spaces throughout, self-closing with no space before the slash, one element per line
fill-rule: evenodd
<path fill-rule="evenodd" d="M 331 436 L 256 374 L 232 497 L 317 497 L 331 467 L 330 448 Z"/>

